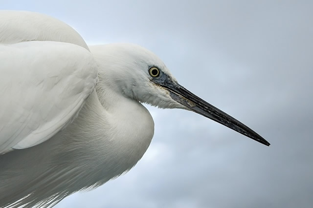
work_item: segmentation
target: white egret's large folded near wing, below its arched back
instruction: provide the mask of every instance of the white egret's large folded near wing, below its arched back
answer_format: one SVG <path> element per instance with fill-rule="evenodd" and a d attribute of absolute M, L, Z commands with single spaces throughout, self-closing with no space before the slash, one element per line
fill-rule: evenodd
<path fill-rule="evenodd" d="M 97 82 L 90 52 L 65 42 L 0 45 L 0 153 L 40 144 L 68 125 Z"/>

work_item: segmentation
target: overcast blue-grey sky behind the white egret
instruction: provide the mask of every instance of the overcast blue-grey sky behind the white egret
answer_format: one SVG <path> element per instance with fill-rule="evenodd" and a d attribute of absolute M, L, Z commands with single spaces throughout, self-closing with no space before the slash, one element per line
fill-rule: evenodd
<path fill-rule="evenodd" d="M 127 174 L 55 208 L 312 208 L 312 0 L 0 0 L 88 44 L 134 42 L 270 147 L 184 110 L 148 106 L 155 136 Z"/>

